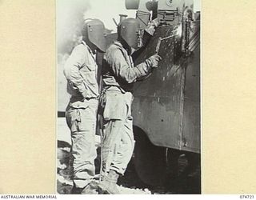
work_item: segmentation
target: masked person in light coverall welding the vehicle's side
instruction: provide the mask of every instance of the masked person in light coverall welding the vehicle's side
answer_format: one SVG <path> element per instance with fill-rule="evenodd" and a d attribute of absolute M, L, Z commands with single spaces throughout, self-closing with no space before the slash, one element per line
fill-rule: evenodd
<path fill-rule="evenodd" d="M 144 34 L 154 34 L 159 25 L 155 19 Z M 158 67 L 161 59 L 157 54 L 134 66 L 132 50 L 138 49 L 138 21 L 124 19 L 118 26 L 118 41 L 106 50 L 102 67 L 102 181 L 99 191 L 102 194 L 119 194 L 118 176 L 124 174 L 134 150 L 133 121 L 131 103 L 133 83 L 145 77 L 153 68 Z M 145 42 L 145 40 L 144 40 Z"/>

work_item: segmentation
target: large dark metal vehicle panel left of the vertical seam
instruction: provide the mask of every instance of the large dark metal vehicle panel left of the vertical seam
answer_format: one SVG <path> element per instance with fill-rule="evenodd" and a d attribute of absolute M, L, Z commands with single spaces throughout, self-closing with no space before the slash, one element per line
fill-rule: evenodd
<path fill-rule="evenodd" d="M 154 54 L 158 38 L 168 37 L 172 30 L 172 26 L 159 27 L 135 64 Z M 163 40 L 158 54 L 162 57 L 158 69 L 154 70 L 149 78 L 134 85 L 134 126 L 145 131 L 154 145 L 180 149 L 184 69 L 174 65 L 174 38 Z"/>

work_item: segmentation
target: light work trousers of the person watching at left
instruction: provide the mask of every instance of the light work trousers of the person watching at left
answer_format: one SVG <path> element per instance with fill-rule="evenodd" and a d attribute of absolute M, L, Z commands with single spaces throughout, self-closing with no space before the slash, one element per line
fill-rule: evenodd
<path fill-rule="evenodd" d="M 71 131 L 71 153 L 74 158 L 73 182 L 78 188 L 85 187 L 95 175 L 97 111 L 96 99 L 73 102 L 66 109 L 66 122 Z"/>

